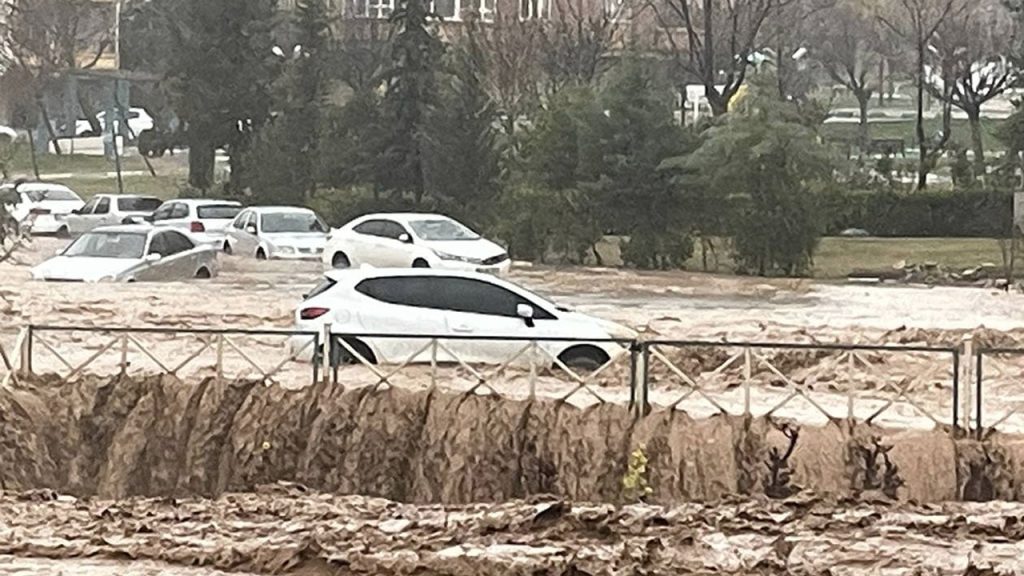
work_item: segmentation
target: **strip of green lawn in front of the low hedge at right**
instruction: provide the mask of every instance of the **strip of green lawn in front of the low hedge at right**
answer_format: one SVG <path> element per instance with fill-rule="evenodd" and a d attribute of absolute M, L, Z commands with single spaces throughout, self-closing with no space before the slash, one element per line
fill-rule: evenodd
<path fill-rule="evenodd" d="M 999 243 L 985 238 L 824 238 L 814 256 L 815 278 L 845 278 L 855 270 L 891 269 L 899 261 L 968 269 L 1002 265 Z"/>

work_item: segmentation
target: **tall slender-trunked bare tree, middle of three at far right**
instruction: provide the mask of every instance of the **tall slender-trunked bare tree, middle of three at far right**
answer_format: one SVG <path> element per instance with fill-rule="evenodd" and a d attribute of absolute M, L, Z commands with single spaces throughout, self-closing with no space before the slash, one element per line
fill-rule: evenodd
<path fill-rule="evenodd" d="M 942 94 L 942 132 L 934 140 L 930 140 L 925 133 L 925 91 L 928 84 L 926 63 L 929 46 L 939 29 L 949 19 L 959 17 L 968 9 L 970 2 L 971 0 L 898 0 L 895 5 L 885 5 L 879 9 L 880 20 L 914 51 L 913 78 L 918 92 L 916 136 L 920 154 L 918 190 L 928 188 L 928 174 L 945 150 L 952 128 L 951 106 L 948 104 L 950 96 Z M 951 91 L 948 81 L 951 71 L 942 70 L 941 74 L 942 78 L 947 79 L 943 82 L 942 91 Z"/>

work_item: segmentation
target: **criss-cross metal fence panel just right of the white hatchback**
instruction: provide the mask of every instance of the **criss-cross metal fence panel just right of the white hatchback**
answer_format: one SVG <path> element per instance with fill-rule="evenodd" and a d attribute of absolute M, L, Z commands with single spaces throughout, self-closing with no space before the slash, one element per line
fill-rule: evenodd
<path fill-rule="evenodd" d="M 646 401 L 694 416 L 955 427 L 962 410 L 954 348 L 653 341 L 643 349 Z"/>

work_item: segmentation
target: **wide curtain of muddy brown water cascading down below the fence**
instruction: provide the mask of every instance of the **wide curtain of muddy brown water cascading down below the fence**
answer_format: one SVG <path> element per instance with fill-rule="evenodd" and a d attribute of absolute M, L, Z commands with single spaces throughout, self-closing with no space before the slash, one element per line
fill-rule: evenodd
<path fill-rule="evenodd" d="M 643 448 L 650 501 L 803 492 L 944 501 L 1024 495 L 1024 450 L 942 430 L 325 385 L 85 379 L 0 390 L 0 489 L 211 496 L 280 481 L 420 503 L 534 494 L 618 502 Z"/>

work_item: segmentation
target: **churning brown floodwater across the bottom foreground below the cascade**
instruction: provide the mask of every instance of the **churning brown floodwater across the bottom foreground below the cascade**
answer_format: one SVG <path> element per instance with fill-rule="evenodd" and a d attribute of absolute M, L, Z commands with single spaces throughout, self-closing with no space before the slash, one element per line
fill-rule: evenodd
<path fill-rule="evenodd" d="M 54 568 L 94 574 L 97 561 L 117 561 L 126 568 L 121 574 L 138 563 L 157 567 L 147 574 L 181 576 L 201 568 L 209 570 L 204 576 L 214 569 L 307 576 L 977 576 L 1024 571 L 1022 515 L 1021 505 L 1006 503 L 921 507 L 813 498 L 618 507 L 545 496 L 425 506 L 296 485 L 213 501 L 83 501 L 37 491 L 0 496 L 0 562 L 14 556 L 19 573 L 40 575 Z"/>

